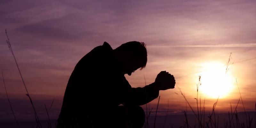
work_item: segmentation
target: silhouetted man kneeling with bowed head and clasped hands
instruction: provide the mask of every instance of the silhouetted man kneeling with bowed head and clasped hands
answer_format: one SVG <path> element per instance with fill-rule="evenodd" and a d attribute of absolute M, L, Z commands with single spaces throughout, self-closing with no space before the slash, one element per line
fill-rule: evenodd
<path fill-rule="evenodd" d="M 162 71 L 154 83 L 132 88 L 124 74 L 130 76 L 146 63 L 144 43 L 127 42 L 114 50 L 107 42 L 95 47 L 68 80 L 57 128 L 141 128 L 145 113 L 140 105 L 175 86 L 174 77 Z"/>

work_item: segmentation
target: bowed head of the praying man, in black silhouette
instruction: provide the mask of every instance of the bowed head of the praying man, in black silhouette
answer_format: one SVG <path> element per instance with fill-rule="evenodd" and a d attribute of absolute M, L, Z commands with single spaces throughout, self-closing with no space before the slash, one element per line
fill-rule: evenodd
<path fill-rule="evenodd" d="M 129 76 L 137 70 L 146 67 L 147 49 L 143 42 L 131 41 L 114 49 L 121 71 Z"/>

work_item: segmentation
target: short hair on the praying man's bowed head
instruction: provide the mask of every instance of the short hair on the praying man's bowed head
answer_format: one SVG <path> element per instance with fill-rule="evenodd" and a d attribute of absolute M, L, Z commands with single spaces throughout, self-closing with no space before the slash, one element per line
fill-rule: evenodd
<path fill-rule="evenodd" d="M 117 51 L 123 51 L 129 53 L 132 59 L 135 61 L 140 61 L 140 70 L 146 67 L 147 64 L 147 49 L 146 44 L 144 42 L 131 41 L 122 44 L 121 46 L 116 48 Z"/>

